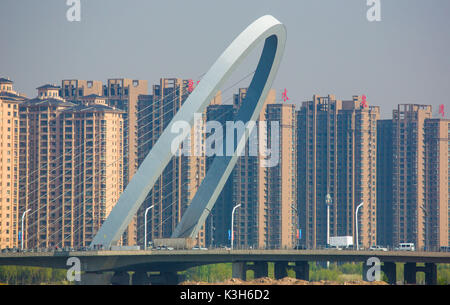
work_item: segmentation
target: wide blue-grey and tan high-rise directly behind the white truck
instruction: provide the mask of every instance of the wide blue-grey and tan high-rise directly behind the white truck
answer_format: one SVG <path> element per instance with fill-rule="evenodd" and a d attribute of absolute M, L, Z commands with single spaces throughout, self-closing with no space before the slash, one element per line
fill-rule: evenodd
<path fill-rule="evenodd" d="M 359 96 L 350 101 L 314 96 L 297 112 L 300 244 L 327 244 L 327 194 L 332 199 L 329 236 L 353 236 L 356 244 L 358 227 L 359 244 L 376 244 L 378 118 L 379 107 Z"/>

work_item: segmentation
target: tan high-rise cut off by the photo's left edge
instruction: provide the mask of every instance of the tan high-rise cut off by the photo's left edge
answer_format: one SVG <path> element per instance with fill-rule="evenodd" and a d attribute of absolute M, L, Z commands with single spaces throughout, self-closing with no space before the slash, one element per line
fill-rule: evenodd
<path fill-rule="evenodd" d="M 19 106 L 26 100 L 13 82 L 0 78 L 0 249 L 17 247 L 19 238 Z"/>

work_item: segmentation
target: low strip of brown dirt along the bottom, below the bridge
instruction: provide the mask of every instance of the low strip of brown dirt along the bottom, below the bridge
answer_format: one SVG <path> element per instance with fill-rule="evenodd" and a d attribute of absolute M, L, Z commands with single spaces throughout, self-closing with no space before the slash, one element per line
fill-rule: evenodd
<path fill-rule="evenodd" d="M 240 279 L 231 279 L 220 283 L 207 283 L 207 282 L 191 282 L 186 281 L 181 285 L 388 285 L 386 282 L 365 282 L 365 281 L 347 281 L 347 282 L 335 282 L 335 281 L 318 281 L 308 282 L 304 280 L 297 280 L 291 277 L 285 277 L 281 280 L 274 280 L 268 277 L 243 281 Z"/>

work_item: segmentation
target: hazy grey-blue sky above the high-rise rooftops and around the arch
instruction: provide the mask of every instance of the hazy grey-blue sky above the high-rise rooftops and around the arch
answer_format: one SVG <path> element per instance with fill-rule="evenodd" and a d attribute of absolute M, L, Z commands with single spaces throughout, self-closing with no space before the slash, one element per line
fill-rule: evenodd
<path fill-rule="evenodd" d="M 288 31 L 279 98 L 284 88 L 296 103 L 366 94 L 383 117 L 399 103 L 450 111 L 449 0 L 381 0 L 381 22 L 366 19 L 366 0 L 81 0 L 81 22 L 67 21 L 68 8 L 66 0 L 0 0 L 0 77 L 16 90 L 34 97 L 36 87 L 69 78 L 198 79 L 271 14 Z M 254 70 L 252 55 L 237 79 Z"/>

